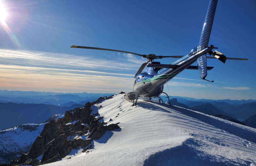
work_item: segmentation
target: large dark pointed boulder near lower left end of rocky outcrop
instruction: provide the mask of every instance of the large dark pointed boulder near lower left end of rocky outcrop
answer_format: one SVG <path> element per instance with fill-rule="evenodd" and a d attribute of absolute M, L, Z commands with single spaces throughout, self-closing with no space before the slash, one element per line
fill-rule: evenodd
<path fill-rule="evenodd" d="M 56 140 L 52 142 L 51 145 L 45 150 L 41 162 L 45 162 L 55 156 L 57 153 L 61 156 L 70 147 L 69 142 L 65 134 L 61 134 Z M 60 158 L 61 159 L 61 158 Z"/>

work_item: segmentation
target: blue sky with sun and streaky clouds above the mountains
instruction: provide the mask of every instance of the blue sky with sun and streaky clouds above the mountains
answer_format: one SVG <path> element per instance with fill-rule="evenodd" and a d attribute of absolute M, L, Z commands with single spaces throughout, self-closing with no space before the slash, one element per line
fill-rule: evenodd
<path fill-rule="evenodd" d="M 0 4 L 1 90 L 128 93 L 146 59 L 70 47 L 186 55 L 198 46 L 209 1 L 0 0 Z M 164 92 L 198 99 L 255 100 L 255 8 L 254 0 L 219 0 L 209 41 L 227 57 L 248 61 L 223 64 L 207 59 L 214 68 L 206 79 L 213 83 L 200 79 L 196 70 L 185 70 L 164 85 Z"/>

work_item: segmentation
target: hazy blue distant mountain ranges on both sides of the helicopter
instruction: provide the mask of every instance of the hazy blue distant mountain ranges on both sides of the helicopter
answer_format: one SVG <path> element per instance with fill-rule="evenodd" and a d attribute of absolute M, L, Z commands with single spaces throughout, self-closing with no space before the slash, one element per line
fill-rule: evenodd
<path fill-rule="evenodd" d="M 0 113 L 2 115 L 0 116 L 0 130 L 26 123 L 43 123 L 54 114 L 64 114 L 67 110 L 83 107 L 87 102 L 93 102 L 99 97 L 110 95 L 113 94 L 0 90 Z M 161 98 L 164 102 L 167 101 L 165 96 L 161 96 Z M 256 114 L 256 100 L 252 99 L 209 100 L 180 96 L 170 96 L 170 99 L 172 105 L 209 115 L 226 115 L 241 122 Z M 10 117 L 15 120 L 13 122 L 8 121 Z M 256 121 L 255 117 L 251 117 L 244 123 L 253 126 L 253 124 L 248 124 L 249 122 L 252 123 L 253 120 Z"/>

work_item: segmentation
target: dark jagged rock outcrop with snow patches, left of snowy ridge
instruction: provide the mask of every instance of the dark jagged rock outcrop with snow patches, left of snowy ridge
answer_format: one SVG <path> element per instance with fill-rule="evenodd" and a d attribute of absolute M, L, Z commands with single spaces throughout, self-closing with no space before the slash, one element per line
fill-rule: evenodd
<path fill-rule="evenodd" d="M 11 164 L 24 164 L 26 161 L 32 165 L 56 162 L 79 147 L 85 148 L 83 152 L 86 152 L 92 147 L 92 140 L 100 139 L 106 131 L 119 128 L 117 124 L 105 125 L 107 123 L 100 122 L 103 117 L 99 116 L 99 112 L 91 115 L 91 105 L 109 98 L 112 97 L 100 97 L 96 102 L 87 102 L 84 108 L 66 111 L 63 118 L 45 124 L 29 153 L 21 154 Z M 43 155 L 41 162 L 36 159 L 40 155 Z"/>

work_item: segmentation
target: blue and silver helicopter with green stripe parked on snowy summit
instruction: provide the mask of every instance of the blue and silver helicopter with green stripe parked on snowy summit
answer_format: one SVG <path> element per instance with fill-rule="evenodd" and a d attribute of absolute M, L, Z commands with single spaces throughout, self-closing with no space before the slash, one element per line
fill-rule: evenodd
<path fill-rule="evenodd" d="M 164 93 L 164 84 L 166 84 L 173 77 L 178 75 L 185 69 L 198 70 L 200 74 L 200 78 L 209 81 L 206 78 L 207 70 L 211 70 L 213 67 L 207 66 L 206 59 L 207 58 L 217 58 L 222 63 L 225 63 L 226 60 L 248 60 L 245 58 L 230 58 L 226 57 L 219 51 L 213 49 L 218 49 L 213 45 L 208 46 L 210 34 L 212 30 L 213 19 L 217 7 L 218 0 L 210 0 L 202 34 L 200 36 L 199 45 L 185 55 L 185 56 L 157 56 L 155 54 L 142 55 L 128 51 L 115 50 L 115 49 L 103 49 L 97 47 L 84 47 L 84 46 L 71 46 L 71 48 L 81 48 L 81 49 L 97 49 L 97 50 L 106 50 L 106 51 L 116 51 L 123 52 L 128 54 L 137 55 L 143 58 L 147 58 L 147 62 L 143 63 L 138 72 L 135 74 L 134 83 L 133 83 L 133 92 L 129 92 L 124 95 L 124 99 L 133 102 L 133 105 L 137 104 L 138 97 L 149 97 L 149 99 L 153 97 L 158 97 L 159 102 L 162 100 L 160 98 L 160 94 Z M 209 55 L 209 56 L 206 56 Z M 178 60 L 172 62 L 171 64 L 160 64 L 160 62 L 155 62 L 155 59 L 162 58 L 179 58 Z M 192 66 L 194 62 L 197 63 L 197 66 Z M 214 81 L 209 81 L 214 82 Z M 167 98 L 169 100 L 169 104 L 171 105 L 168 94 Z M 136 100 L 136 101 L 135 101 Z M 163 102 L 163 100 L 162 100 Z"/>

